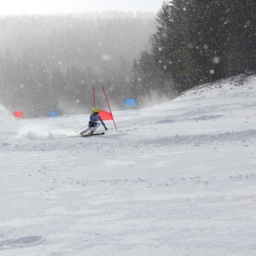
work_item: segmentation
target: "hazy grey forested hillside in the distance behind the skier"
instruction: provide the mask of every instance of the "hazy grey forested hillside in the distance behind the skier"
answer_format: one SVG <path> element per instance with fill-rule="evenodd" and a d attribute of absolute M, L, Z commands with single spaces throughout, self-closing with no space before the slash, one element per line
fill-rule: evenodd
<path fill-rule="evenodd" d="M 2 17 L 0 102 L 23 108 L 26 117 L 84 113 L 93 86 L 103 104 L 104 86 L 109 100 L 122 106 L 132 61 L 155 30 L 151 13 Z"/>

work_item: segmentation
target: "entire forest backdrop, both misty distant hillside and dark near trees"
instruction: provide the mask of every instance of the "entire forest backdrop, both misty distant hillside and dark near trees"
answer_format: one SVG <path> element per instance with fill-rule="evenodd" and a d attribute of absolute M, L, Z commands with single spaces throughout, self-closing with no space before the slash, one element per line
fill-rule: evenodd
<path fill-rule="evenodd" d="M 198 84 L 255 72 L 255 14 L 254 0 L 172 0 L 156 17 L 2 17 L 0 102 L 21 102 L 27 116 L 84 113 L 92 106 L 93 86 L 104 86 L 122 108 L 133 92 L 137 102 L 171 98 Z M 103 95 L 97 96 L 102 108 Z"/>

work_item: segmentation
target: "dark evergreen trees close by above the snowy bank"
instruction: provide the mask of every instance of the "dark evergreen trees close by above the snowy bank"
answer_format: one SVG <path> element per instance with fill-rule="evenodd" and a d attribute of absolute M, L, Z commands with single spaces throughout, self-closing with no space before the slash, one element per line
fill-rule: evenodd
<path fill-rule="evenodd" d="M 133 63 L 137 95 L 178 95 L 195 85 L 256 71 L 254 0 L 172 0 Z"/>

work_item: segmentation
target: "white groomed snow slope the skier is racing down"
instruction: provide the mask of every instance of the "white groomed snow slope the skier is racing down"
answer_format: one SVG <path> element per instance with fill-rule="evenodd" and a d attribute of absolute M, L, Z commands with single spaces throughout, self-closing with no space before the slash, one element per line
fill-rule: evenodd
<path fill-rule="evenodd" d="M 256 255 L 256 77 L 113 112 L 0 122 L 0 255 Z"/>

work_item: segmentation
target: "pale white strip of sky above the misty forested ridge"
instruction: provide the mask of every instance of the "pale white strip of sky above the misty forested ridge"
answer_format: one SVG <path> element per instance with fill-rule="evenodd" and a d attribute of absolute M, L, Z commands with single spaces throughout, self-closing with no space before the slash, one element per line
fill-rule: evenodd
<path fill-rule="evenodd" d="M 60 14 L 104 10 L 154 12 L 164 0 L 0 0 L 0 15 Z"/>

